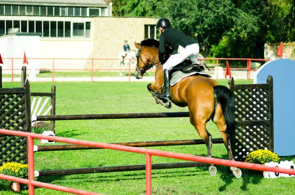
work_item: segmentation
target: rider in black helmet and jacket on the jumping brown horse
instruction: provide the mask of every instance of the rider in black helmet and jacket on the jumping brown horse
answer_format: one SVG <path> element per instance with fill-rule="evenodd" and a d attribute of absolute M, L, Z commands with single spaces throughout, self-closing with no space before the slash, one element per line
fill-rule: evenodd
<path fill-rule="evenodd" d="M 170 21 L 166 18 L 161 18 L 157 22 L 157 27 L 160 32 L 160 47 L 159 47 L 159 60 L 162 61 L 165 55 L 166 45 L 173 49 L 172 55 L 163 64 L 164 69 L 164 86 L 163 93 L 157 94 L 159 98 L 170 99 L 170 78 L 169 71 L 171 67 L 178 65 L 183 62 L 186 58 L 196 64 L 199 57 L 199 44 L 198 42 L 189 37 L 176 28 L 171 28 Z"/>

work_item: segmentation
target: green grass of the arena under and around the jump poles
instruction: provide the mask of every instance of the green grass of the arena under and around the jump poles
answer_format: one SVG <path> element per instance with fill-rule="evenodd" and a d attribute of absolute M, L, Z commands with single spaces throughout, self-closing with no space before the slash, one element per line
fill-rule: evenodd
<path fill-rule="evenodd" d="M 218 80 L 227 85 L 228 80 Z M 237 80 L 236 84 L 253 81 Z M 57 86 L 56 114 L 99 114 L 188 111 L 175 105 L 171 110 L 155 104 L 145 82 L 55 82 Z M 31 83 L 31 92 L 50 92 L 52 83 Z M 3 83 L 3 87 L 19 87 L 20 83 Z M 216 126 L 207 123 L 213 138 L 221 138 Z M 131 142 L 177 139 L 200 139 L 189 118 L 105 119 L 56 121 L 56 134 L 60 137 L 100 142 Z M 36 145 L 41 144 L 38 140 Z M 58 145 L 63 143 L 56 143 Z M 52 145 L 52 144 L 49 144 Z M 151 147 L 192 155 L 207 155 L 205 145 Z M 227 159 L 223 144 L 214 144 L 212 155 Z M 80 150 L 37 152 L 35 170 L 121 166 L 145 164 L 145 155 L 112 150 Z M 295 161 L 295 157 L 283 159 Z M 152 163 L 182 162 L 176 159 L 152 156 Z M 242 169 L 237 179 L 227 167 L 217 166 L 212 177 L 207 167 L 152 170 L 154 195 L 273 195 L 294 194 L 295 177 L 265 179 L 262 173 Z M 125 171 L 67 176 L 38 177 L 38 181 L 97 192 L 105 195 L 144 195 L 145 171 Z M 0 192 L 12 195 L 11 192 Z M 28 194 L 28 191 L 20 193 Z M 65 195 L 66 193 L 36 188 L 36 195 Z"/>

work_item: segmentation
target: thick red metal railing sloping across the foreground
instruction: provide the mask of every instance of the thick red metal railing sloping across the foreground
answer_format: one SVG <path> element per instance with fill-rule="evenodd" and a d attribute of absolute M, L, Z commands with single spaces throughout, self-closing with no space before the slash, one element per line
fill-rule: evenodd
<path fill-rule="evenodd" d="M 12 130 L 5 130 L 5 129 L 0 129 L 0 134 L 21 136 L 21 137 L 28 138 L 29 178 L 22 179 L 22 178 L 0 174 L 0 179 L 6 179 L 6 180 L 28 184 L 29 195 L 34 195 L 34 187 L 48 188 L 52 190 L 58 190 L 58 191 L 68 192 L 68 193 L 73 193 L 78 195 L 99 195 L 97 193 L 91 193 L 91 192 L 87 192 L 83 190 L 34 181 L 34 152 L 33 152 L 34 140 L 33 139 L 48 139 L 52 141 L 59 141 L 59 142 L 72 143 L 72 144 L 78 144 L 78 145 L 145 154 L 146 155 L 146 194 L 147 195 L 151 195 L 151 155 L 182 159 L 187 161 L 195 161 L 195 162 L 201 162 L 201 163 L 207 163 L 207 164 L 214 164 L 214 165 L 222 165 L 227 167 L 239 167 L 239 168 L 247 168 L 247 169 L 254 169 L 254 170 L 261 170 L 261 171 L 272 171 L 277 173 L 286 173 L 286 174 L 295 175 L 295 169 L 291 169 L 291 168 L 288 169 L 288 168 L 280 168 L 280 167 L 269 167 L 269 166 L 258 165 L 253 163 L 243 163 L 243 162 L 230 161 L 230 160 L 224 160 L 224 159 L 207 158 L 202 156 L 179 154 L 174 152 L 165 152 L 165 151 L 159 151 L 154 149 L 138 148 L 138 147 L 124 146 L 124 145 L 117 145 L 117 144 L 110 144 L 110 143 L 100 143 L 100 142 L 86 141 L 86 140 L 80 140 L 80 139 L 43 136 L 40 134 L 33 134 L 33 133 L 12 131 Z"/>

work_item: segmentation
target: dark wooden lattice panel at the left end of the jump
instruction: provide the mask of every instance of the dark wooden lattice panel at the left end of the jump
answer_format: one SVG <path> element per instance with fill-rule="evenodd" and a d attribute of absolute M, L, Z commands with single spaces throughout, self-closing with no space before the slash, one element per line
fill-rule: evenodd
<path fill-rule="evenodd" d="M 29 116 L 29 117 L 28 117 Z M 0 129 L 31 132 L 30 87 L 0 88 Z M 0 165 L 27 163 L 27 139 L 0 134 Z"/>

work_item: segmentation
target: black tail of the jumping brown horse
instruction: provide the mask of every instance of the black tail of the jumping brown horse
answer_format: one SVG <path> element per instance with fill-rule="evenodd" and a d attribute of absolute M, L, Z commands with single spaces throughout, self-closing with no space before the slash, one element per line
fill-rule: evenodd
<path fill-rule="evenodd" d="M 220 103 L 226 122 L 225 133 L 234 134 L 236 129 L 235 97 L 233 92 L 223 85 L 213 87 L 215 104 Z M 216 102 L 217 101 L 217 102 Z"/>

